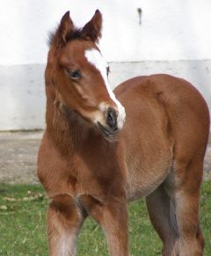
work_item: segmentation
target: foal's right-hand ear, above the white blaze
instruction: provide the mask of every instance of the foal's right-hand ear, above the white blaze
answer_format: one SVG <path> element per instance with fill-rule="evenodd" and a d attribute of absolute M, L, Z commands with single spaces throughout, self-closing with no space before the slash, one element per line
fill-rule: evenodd
<path fill-rule="evenodd" d="M 96 10 L 91 20 L 83 27 L 81 34 L 85 39 L 98 42 L 101 37 L 102 15 Z"/>

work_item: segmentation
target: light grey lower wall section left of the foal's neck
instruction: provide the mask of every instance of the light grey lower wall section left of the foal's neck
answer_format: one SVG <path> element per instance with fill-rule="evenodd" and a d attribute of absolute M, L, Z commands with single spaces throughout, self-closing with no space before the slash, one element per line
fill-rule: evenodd
<path fill-rule="evenodd" d="M 0 130 L 44 128 L 44 65 L 0 67 L 0 77 Z"/>

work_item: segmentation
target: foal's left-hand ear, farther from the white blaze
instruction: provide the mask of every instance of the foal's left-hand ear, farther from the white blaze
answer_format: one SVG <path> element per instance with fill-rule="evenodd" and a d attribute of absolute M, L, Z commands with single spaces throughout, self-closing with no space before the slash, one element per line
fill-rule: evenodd
<path fill-rule="evenodd" d="M 67 11 L 60 22 L 60 25 L 55 33 L 54 43 L 57 48 L 62 48 L 69 40 L 69 36 L 74 32 L 74 25 L 69 17 L 69 11 Z"/>

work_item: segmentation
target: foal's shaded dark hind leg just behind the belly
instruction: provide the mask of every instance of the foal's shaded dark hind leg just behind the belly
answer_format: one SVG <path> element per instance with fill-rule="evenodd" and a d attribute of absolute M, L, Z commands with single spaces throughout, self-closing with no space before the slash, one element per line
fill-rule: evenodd
<path fill-rule="evenodd" d="M 178 256 L 178 226 L 174 216 L 174 208 L 163 185 L 146 198 L 151 223 L 162 239 L 163 255 Z"/>

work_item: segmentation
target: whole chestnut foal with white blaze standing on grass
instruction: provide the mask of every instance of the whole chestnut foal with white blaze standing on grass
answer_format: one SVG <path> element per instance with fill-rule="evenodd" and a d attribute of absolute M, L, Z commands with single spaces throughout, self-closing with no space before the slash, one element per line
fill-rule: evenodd
<path fill-rule="evenodd" d="M 205 100 L 192 84 L 167 75 L 135 77 L 114 94 L 97 45 L 101 25 L 96 11 L 78 30 L 67 12 L 51 36 L 38 158 L 50 199 L 49 254 L 74 255 L 84 219 L 92 216 L 110 254 L 127 256 L 127 201 L 146 197 L 163 255 L 200 256 Z"/>

